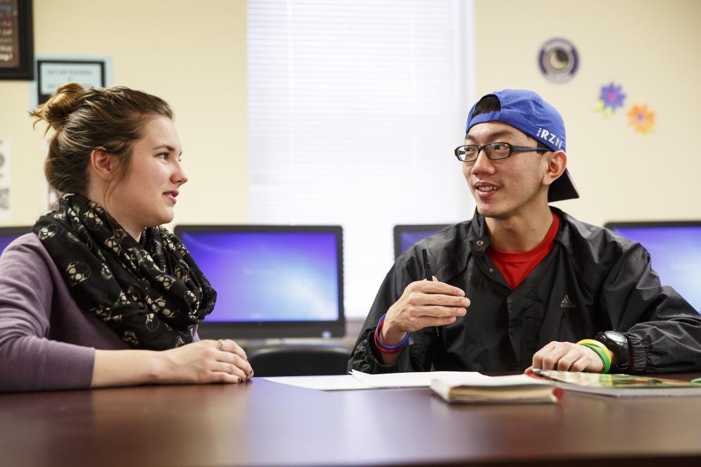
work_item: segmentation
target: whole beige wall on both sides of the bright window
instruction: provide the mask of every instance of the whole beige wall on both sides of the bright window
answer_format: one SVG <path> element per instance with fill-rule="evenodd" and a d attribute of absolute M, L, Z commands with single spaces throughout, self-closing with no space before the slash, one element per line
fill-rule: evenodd
<path fill-rule="evenodd" d="M 176 113 L 190 177 L 176 221 L 246 222 L 244 0 L 34 0 L 38 55 L 111 56 L 114 84 L 163 96 Z M 476 91 L 534 89 L 567 124 L 569 167 L 582 198 L 558 203 L 594 224 L 610 219 L 701 219 L 701 109 L 696 0 L 476 0 Z M 541 44 L 566 37 L 579 73 L 546 81 Z M 593 111 L 602 84 L 624 85 L 626 109 L 647 103 L 657 132 L 643 138 L 619 111 Z M 11 139 L 13 218 L 44 208 L 42 136 L 26 117 L 27 82 L 0 82 L 0 136 Z M 467 110 L 466 110 L 467 111 Z"/>

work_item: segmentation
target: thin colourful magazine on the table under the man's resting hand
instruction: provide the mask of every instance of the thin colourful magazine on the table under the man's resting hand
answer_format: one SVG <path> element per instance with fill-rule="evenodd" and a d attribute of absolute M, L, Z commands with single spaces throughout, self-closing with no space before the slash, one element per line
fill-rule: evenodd
<path fill-rule="evenodd" d="M 536 376 L 564 390 L 591 392 L 614 397 L 666 397 L 701 395 L 701 383 L 655 376 L 575 373 L 533 369 Z"/>

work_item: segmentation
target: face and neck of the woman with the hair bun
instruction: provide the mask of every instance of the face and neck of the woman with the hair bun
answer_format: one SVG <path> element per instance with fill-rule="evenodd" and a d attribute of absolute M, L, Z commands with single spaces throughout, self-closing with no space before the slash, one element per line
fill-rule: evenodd
<path fill-rule="evenodd" d="M 168 117 L 153 117 L 132 149 L 127 174 L 106 200 L 112 217 L 134 238 L 141 229 L 172 221 L 178 188 L 187 181 L 182 148 Z"/>

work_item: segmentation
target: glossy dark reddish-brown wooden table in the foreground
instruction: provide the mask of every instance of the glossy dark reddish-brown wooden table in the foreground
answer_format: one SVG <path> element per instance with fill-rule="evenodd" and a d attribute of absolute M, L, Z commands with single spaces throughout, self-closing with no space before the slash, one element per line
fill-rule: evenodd
<path fill-rule="evenodd" d="M 321 392 L 261 378 L 0 395 L 2 466 L 513 463 L 701 466 L 701 397 L 450 406 L 428 389 Z"/>

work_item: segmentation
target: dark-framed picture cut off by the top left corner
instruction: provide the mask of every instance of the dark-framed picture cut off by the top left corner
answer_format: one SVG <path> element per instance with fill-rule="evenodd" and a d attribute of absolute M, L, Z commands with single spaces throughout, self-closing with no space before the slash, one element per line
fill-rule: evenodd
<path fill-rule="evenodd" d="M 0 0 L 0 79 L 34 79 L 32 0 Z"/>

